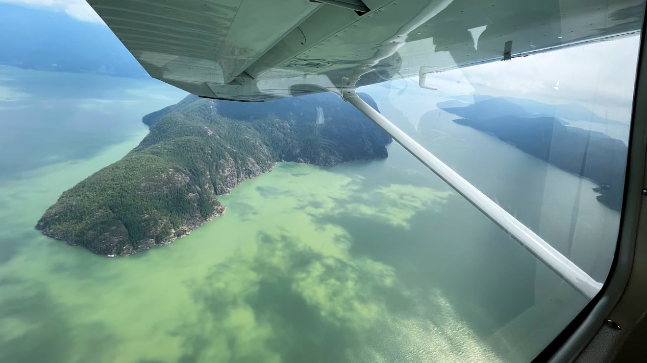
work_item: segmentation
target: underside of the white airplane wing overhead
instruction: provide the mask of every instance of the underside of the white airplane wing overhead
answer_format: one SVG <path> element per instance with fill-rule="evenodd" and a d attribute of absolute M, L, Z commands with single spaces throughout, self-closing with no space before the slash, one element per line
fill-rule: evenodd
<path fill-rule="evenodd" d="M 266 101 L 638 32 L 642 0 L 87 0 L 154 78 Z"/>

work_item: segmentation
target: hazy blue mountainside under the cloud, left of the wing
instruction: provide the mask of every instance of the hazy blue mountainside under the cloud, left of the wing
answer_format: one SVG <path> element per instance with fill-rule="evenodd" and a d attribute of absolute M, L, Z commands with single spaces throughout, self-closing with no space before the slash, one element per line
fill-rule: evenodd
<path fill-rule="evenodd" d="M 0 64 L 24 69 L 148 78 L 104 24 L 0 3 Z"/>

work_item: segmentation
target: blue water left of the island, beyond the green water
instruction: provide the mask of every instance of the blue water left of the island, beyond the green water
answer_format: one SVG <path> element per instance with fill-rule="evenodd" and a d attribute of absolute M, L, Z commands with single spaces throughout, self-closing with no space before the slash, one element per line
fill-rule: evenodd
<path fill-rule="evenodd" d="M 0 65 L 0 182 L 90 158 L 146 129 L 143 114 L 186 92 L 152 79 L 39 72 Z"/>

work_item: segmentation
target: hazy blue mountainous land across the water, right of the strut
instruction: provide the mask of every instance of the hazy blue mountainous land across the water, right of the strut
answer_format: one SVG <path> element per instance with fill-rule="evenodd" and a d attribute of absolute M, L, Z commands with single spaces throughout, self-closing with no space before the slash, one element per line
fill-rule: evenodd
<path fill-rule="evenodd" d="M 552 116 L 531 114 L 503 98 L 482 98 L 472 105 L 459 101 L 438 103 L 440 109 L 460 119 L 454 122 L 483 132 L 536 158 L 599 186 L 598 201 L 616 211 L 622 205 L 628 149 L 602 132 L 571 127 Z"/>

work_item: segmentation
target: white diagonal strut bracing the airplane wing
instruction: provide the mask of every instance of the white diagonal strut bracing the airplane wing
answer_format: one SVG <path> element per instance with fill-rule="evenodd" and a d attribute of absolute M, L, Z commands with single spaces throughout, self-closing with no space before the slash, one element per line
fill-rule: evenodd
<path fill-rule="evenodd" d="M 505 211 L 497 203 L 492 201 L 488 196 L 479 191 L 474 185 L 470 184 L 457 172 L 448 167 L 443 161 L 433 156 L 431 152 L 417 143 L 411 136 L 393 125 L 391 121 L 382 116 L 373 107 L 357 96 L 354 89 L 342 88 L 342 98 L 351 103 L 356 109 L 368 116 L 379 127 L 384 129 L 387 134 L 391 135 L 393 140 L 397 141 L 404 149 L 408 150 L 413 156 L 420 160 L 426 167 L 431 169 L 444 182 L 448 183 L 458 194 L 472 203 L 485 216 L 496 223 L 503 231 L 506 231 L 519 242 L 525 249 L 534 254 L 536 258 L 543 262 L 549 269 L 553 270 L 558 276 L 571 285 L 576 291 L 591 299 L 602 288 L 602 284 L 587 275 L 580 267 L 571 262 L 563 254 L 545 242 L 540 236 L 532 232 L 531 229 L 523 225 L 512 214 Z"/>

